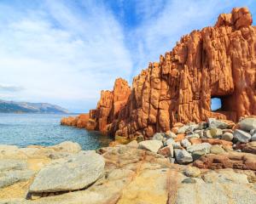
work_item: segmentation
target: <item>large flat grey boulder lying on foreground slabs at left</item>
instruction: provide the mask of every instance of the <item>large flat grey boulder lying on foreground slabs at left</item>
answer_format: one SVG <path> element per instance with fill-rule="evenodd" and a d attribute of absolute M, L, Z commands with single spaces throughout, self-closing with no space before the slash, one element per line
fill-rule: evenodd
<path fill-rule="evenodd" d="M 102 176 L 105 161 L 94 151 L 81 151 L 43 167 L 32 182 L 31 193 L 84 189 Z"/>

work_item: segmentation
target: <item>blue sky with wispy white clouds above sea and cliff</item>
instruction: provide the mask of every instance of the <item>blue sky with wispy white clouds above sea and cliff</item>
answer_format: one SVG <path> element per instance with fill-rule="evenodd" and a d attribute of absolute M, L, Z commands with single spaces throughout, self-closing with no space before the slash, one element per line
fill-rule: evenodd
<path fill-rule="evenodd" d="M 254 0 L 0 0 L 0 99 L 96 107 L 184 34 Z M 253 19 L 255 21 L 255 18 Z"/>

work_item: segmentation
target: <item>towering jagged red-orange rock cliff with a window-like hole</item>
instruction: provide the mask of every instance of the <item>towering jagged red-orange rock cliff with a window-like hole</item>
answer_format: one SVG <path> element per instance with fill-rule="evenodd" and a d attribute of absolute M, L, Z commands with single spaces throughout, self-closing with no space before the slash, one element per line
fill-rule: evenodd
<path fill-rule="evenodd" d="M 148 138 L 176 122 L 207 117 L 237 121 L 256 114 L 256 27 L 247 8 L 220 14 L 213 27 L 192 31 L 160 56 L 160 62 L 133 79 L 132 89 L 117 79 L 113 92 L 102 91 L 90 111 L 94 129 L 103 133 Z M 211 111 L 211 98 L 222 101 Z"/>

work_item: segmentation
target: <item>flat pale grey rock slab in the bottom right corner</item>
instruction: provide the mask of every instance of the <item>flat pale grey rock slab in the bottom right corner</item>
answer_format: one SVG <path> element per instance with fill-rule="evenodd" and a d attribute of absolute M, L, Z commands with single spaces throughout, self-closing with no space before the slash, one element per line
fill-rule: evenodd
<path fill-rule="evenodd" d="M 250 203 L 256 199 L 255 190 L 249 184 L 206 183 L 200 178 L 191 178 L 195 182 L 183 182 L 179 185 L 175 203 L 216 204 L 216 203 Z M 213 193 L 214 192 L 214 193 Z"/>

